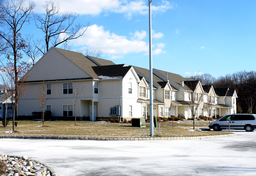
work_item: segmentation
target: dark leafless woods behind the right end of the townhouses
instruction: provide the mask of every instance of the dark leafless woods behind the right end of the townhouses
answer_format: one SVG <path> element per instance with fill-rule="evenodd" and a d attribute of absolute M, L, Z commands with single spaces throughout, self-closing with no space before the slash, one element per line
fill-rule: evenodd
<path fill-rule="evenodd" d="M 205 73 L 191 77 L 213 88 L 235 89 L 237 93 L 237 113 L 256 113 L 256 71 L 239 71 L 215 78 Z"/>

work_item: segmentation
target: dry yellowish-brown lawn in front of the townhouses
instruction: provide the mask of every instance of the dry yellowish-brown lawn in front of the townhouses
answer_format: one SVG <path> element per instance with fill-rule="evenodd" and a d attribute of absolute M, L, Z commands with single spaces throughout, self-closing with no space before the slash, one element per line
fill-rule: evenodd
<path fill-rule="evenodd" d="M 77 136 L 77 137 L 108 137 L 108 138 L 143 138 L 150 137 L 150 123 L 145 128 L 132 127 L 131 123 L 91 122 L 91 121 L 45 121 L 45 126 L 40 121 L 17 121 L 15 131 L 12 131 L 12 122 L 4 128 L 0 127 L 1 136 Z M 188 137 L 230 134 L 221 131 L 200 131 L 207 128 L 207 122 L 195 121 L 196 131 L 193 129 L 193 121 L 161 122 L 160 137 Z M 158 136 L 158 128 L 154 128 L 154 136 Z"/>

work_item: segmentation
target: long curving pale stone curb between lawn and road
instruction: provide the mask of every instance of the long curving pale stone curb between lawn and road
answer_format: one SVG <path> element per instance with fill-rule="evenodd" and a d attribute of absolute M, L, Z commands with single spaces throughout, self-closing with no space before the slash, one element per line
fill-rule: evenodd
<path fill-rule="evenodd" d="M 193 136 L 193 137 L 145 137 L 145 138 L 95 138 L 95 137 L 67 137 L 67 136 L 0 136 L 2 138 L 11 139 L 55 139 L 55 140 L 97 140 L 97 141 L 149 141 L 149 140 L 195 140 L 195 139 L 210 139 L 210 138 L 224 138 L 236 136 L 233 134 L 222 134 L 212 136 Z"/>

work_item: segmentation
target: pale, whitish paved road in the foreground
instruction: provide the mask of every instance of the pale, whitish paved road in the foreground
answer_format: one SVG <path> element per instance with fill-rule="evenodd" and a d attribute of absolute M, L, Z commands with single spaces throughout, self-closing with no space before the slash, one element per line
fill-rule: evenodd
<path fill-rule="evenodd" d="M 0 139 L 0 153 L 27 155 L 59 176 L 256 175 L 256 132 L 170 141 Z"/>

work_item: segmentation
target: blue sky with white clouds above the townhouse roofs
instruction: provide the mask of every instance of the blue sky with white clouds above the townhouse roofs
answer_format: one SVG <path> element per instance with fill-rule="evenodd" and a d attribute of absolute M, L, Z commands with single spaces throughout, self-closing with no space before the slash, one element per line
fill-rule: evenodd
<path fill-rule="evenodd" d="M 90 23 L 69 42 L 73 51 L 101 50 L 115 64 L 149 68 L 148 0 L 56 1 L 61 11 L 79 15 L 76 22 Z M 34 12 L 43 12 L 44 2 L 35 3 Z M 153 67 L 184 77 L 255 71 L 255 9 L 254 0 L 153 0 Z M 33 22 L 25 33 L 43 38 Z"/>

